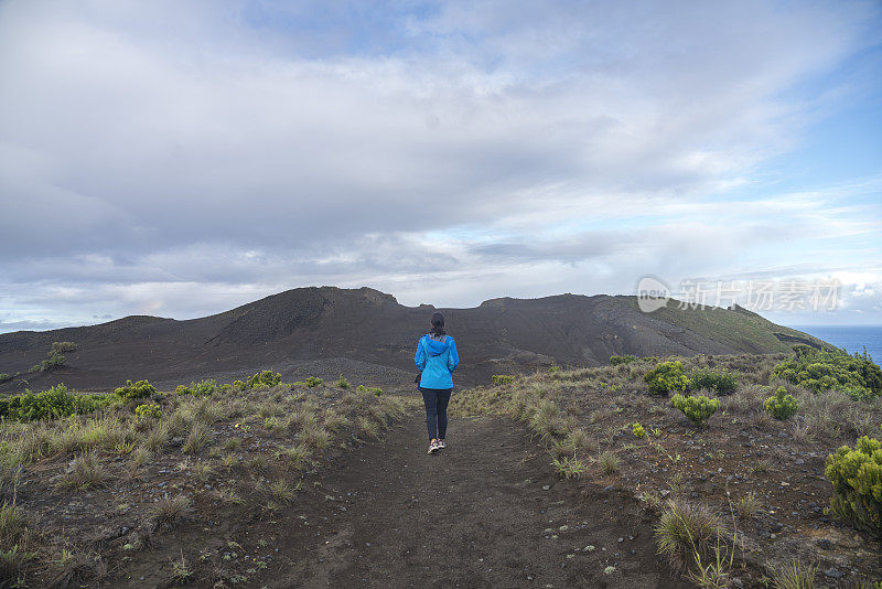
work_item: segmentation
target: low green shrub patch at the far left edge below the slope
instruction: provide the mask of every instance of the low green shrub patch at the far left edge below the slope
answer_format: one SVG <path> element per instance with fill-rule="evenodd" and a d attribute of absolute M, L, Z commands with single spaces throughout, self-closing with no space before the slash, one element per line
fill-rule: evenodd
<path fill-rule="evenodd" d="M 96 411 L 117 404 L 110 395 L 76 395 L 64 385 L 55 385 L 49 390 L 0 398 L 0 419 L 7 421 L 33 421 L 57 419 L 72 415 Z"/>

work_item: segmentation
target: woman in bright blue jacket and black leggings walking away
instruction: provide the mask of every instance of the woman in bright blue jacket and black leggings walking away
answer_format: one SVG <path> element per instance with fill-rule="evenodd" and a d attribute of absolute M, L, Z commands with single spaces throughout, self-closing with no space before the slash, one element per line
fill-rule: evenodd
<path fill-rule="evenodd" d="M 429 453 L 443 448 L 448 430 L 448 401 L 453 392 L 453 371 L 460 364 L 456 342 L 444 331 L 444 315 L 433 313 L 432 330 L 417 342 L 413 361 L 420 371 L 419 385 L 426 404 L 426 425 L 429 428 Z"/>

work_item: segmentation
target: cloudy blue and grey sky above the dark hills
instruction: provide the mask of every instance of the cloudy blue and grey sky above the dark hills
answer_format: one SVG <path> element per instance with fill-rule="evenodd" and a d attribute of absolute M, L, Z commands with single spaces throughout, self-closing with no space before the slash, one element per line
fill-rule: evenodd
<path fill-rule="evenodd" d="M 7 0 L 0 331 L 647 275 L 882 324 L 880 129 L 878 1 Z"/>

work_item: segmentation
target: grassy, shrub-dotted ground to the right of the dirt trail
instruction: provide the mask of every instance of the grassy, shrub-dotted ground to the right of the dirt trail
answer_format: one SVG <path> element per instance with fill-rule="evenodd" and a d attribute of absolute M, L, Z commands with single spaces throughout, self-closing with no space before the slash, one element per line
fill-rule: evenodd
<path fill-rule="evenodd" d="M 872 390 L 869 358 L 808 349 L 537 372 L 461 392 L 451 411 L 510 416 L 561 478 L 630 489 L 658 518 L 659 553 L 699 587 L 874 587 L 882 398 L 782 368 L 826 358 Z"/>

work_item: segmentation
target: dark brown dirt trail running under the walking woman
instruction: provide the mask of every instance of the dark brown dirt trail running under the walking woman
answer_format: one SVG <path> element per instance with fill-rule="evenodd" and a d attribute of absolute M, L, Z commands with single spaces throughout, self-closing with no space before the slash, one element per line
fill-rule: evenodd
<path fill-rule="evenodd" d="M 559 480 L 521 426 L 453 419 L 448 442 L 427 456 L 415 414 L 327 472 L 337 500 L 280 538 L 268 586 L 687 587 L 633 499 Z"/>

